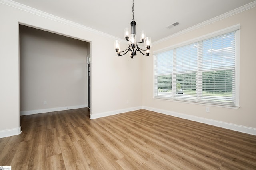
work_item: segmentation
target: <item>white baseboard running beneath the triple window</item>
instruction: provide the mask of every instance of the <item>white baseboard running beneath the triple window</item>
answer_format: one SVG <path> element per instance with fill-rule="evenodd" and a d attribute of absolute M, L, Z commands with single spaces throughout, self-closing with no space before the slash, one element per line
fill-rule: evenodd
<path fill-rule="evenodd" d="M 226 122 L 222 122 L 222 121 L 216 121 L 216 120 L 212 120 L 212 119 L 206 119 L 206 118 L 202 118 L 202 117 L 196 117 L 196 116 L 192 116 L 192 115 L 186 115 L 186 114 L 182 114 L 182 113 L 177 113 L 177 112 L 172 112 L 172 111 L 167 111 L 167 110 L 162 110 L 162 109 L 156 109 L 156 108 L 147 107 L 147 106 L 142 106 L 142 108 L 145 110 L 154 111 L 154 112 L 162 113 L 165 115 L 180 117 L 182 119 L 188 119 L 188 120 L 192 120 L 192 121 L 196 121 L 196 122 L 200 122 L 200 123 L 205 123 L 208 125 L 213 125 L 213 126 L 222 127 L 225 129 L 230 129 L 233 131 L 256 135 L 256 129 L 252 128 L 252 127 L 246 127 L 246 126 L 236 125 L 236 124 L 232 124 L 232 123 L 226 123 Z"/>

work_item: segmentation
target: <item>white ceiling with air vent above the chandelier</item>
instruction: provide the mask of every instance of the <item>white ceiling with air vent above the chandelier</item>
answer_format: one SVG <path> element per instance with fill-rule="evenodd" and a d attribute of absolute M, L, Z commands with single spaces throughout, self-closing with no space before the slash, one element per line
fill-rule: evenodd
<path fill-rule="evenodd" d="M 132 0 L 14 1 L 122 39 L 132 21 Z M 154 42 L 253 1 L 135 0 L 136 33 L 144 30 Z M 167 28 L 176 22 L 180 24 Z"/>

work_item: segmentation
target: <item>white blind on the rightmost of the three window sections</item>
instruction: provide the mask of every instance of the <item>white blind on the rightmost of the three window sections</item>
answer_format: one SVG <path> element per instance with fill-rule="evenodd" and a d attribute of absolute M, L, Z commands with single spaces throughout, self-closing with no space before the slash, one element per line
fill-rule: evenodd
<path fill-rule="evenodd" d="M 198 51 L 199 100 L 235 104 L 235 33 L 204 40 Z"/>

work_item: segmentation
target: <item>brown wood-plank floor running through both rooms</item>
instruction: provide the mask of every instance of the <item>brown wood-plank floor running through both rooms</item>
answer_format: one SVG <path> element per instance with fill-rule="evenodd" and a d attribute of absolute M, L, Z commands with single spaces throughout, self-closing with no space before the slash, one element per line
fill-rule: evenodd
<path fill-rule="evenodd" d="M 256 136 L 138 110 L 89 119 L 89 109 L 21 116 L 0 139 L 13 170 L 256 170 Z"/>

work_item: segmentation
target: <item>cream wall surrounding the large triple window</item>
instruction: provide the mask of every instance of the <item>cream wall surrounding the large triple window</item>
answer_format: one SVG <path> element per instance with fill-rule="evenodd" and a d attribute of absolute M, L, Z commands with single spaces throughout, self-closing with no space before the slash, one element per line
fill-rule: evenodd
<path fill-rule="evenodd" d="M 193 103 L 174 102 L 153 99 L 153 58 L 143 60 L 143 106 L 170 115 L 187 117 L 198 121 L 210 121 L 226 126 L 248 127 L 256 132 L 256 7 L 240 12 L 228 18 L 199 27 L 182 35 L 154 44 L 154 51 L 212 33 L 236 24 L 240 24 L 240 108 L 231 109 L 217 106 L 205 106 Z M 206 107 L 210 113 L 206 113 Z M 239 128 L 238 128 L 239 130 Z"/>

